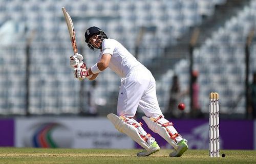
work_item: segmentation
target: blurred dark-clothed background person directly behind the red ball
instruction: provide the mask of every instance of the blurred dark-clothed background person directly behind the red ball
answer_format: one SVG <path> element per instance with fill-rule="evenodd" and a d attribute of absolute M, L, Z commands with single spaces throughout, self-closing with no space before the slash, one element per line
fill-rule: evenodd
<path fill-rule="evenodd" d="M 182 115 L 182 111 L 177 109 L 179 102 L 181 101 L 181 88 L 179 77 L 177 75 L 173 76 L 172 86 L 169 91 L 169 104 L 168 110 L 166 112 L 166 116 L 168 118 L 180 118 Z"/>

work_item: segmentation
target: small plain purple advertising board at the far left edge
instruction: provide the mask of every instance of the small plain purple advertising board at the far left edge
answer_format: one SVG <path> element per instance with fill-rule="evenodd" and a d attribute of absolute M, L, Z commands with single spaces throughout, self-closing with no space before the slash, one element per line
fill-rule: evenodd
<path fill-rule="evenodd" d="M 14 146 L 14 120 L 0 119 L 0 147 Z"/>

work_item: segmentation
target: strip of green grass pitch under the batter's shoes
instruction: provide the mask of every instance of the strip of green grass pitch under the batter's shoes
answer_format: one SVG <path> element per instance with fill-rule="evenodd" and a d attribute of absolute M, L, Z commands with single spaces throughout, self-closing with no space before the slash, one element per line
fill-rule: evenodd
<path fill-rule="evenodd" d="M 208 150 L 188 150 L 182 157 L 169 157 L 162 149 L 148 157 L 137 157 L 140 150 L 118 149 L 41 149 L 0 148 L 0 163 L 256 163 L 256 151 L 222 150 L 226 157 L 211 158 Z"/>

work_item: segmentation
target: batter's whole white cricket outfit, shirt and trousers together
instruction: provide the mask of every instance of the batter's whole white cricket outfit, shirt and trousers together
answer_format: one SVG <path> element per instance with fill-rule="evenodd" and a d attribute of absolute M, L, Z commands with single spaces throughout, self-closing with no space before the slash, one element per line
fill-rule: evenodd
<path fill-rule="evenodd" d="M 99 60 L 104 54 L 112 55 L 109 68 L 121 77 L 117 114 L 133 117 L 139 107 L 148 118 L 163 115 L 151 72 L 115 39 L 102 41 Z"/>

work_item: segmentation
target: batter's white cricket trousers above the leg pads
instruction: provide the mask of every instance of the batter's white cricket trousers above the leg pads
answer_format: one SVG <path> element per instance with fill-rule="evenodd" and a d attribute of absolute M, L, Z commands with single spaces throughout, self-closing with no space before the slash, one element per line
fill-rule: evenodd
<path fill-rule="evenodd" d="M 155 78 L 146 68 L 132 71 L 121 79 L 117 114 L 132 118 L 138 107 L 148 118 L 163 115 L 157 101 Z"/>

